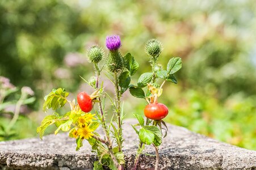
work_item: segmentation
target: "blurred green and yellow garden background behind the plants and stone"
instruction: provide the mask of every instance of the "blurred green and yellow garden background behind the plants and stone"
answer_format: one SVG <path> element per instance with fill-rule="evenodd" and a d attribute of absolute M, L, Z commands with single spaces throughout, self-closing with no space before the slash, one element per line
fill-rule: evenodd
<path fill-rule="evenodd" d="M 72 92 L 70 99 L 87 89 L 79 78 L 93 75 L 86 48 L 104 47 L 105 37 L 117 34 L 123 54 L 131 52 L 140 63 L 137 77 L 150 71 L 144 52 L 149 39 L 162 41 L 163 65 L 182 57 L 178 84 L 165 84 L 160 99 L 170 109 L 167 122 L 256 150 L 255 15 L 254 0 L 0 1 L 0 75 L 17 87 L 30 86 L 36 96 L 8 139 L 36 136 L 36 126 L 51 114 L 41 107 L 52 88 Z M 143 113 L 143 100 L 129 92 L 123 99 L 127 117 Z M 3 112 L 1 126 L 10 121 Z"/>

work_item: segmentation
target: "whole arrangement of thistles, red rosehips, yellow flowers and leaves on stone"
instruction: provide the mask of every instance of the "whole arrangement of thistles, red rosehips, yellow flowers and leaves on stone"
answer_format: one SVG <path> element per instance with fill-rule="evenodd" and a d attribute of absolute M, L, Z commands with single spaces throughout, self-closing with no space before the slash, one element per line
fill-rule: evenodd
<path fill-rule="evenodd" d="M 135 114 L 139 124 L 132 125 L 136 133 L 139 135 L 140 143 L 137 150 L 135 165 L 137 168 L 140 154 L 144 150 L 145 145 L 153 145 L 156 149 L 156 167 L 158 169 L 158 146 L 162 143 L 162 138 L 166 136 L 167 126 L 162 118 L 168 114 L 168 108 L 158 103 L 158 97 L 162 94 L 162 87 L 165 82 L 177 83 L 173 75 L 182 67 L 182 61 L 179 57 L 171 58 L 167 63 L 167 69 L 164 70 L 158 61 L 158 57 L 162 52 L 162 44 L 158 40 L 149 40 L 146 42 L 145 50 L 149 56 L 149 62 L 152 66 L 151 73 L 144 73 L 140 76 L 137 84 L 131 84 L 131 76 L 135 75 L 139 69 L 139 63 L 131 53 L 124 56 L 120 52 L 121 41 L 119 36 L 109 36 L 106 39 L 108 55 L 104 57 L 104 51 L 100 46 L 91 46 L 88 49 L 87 57 L 94 65 L 95 76 L 90 78 L 87 84 L 95 89 L 93 94 L 79 92 L 77 95 L 77 103 L 74 100 L 68 100 L 69 92 L 64 88 L 52 90 L 50 94 L 45 96 L 43 110 L 47 111 L 52 108 L 53 111 L 63 107 L 67 102 L 70 105 L 70 112 L 60 115 L 54 112 L 43 119 L 41 125 L 37 128 L 40 138 L 43 137 L 45 129 L 49 125 L 57 126 L 58 131 L 69 131 L 69 137 L 75 138 L 77 150 L 82 147 L 82 141 L 87 140 L 92 151 L 98 155 L 98 161 L 94 162 L 94 169 L 124 169 L 125 160 L 123 154 L 123 107 L 121 106 L 121 97 L 125 91 L 129 90 L 132 96 L 145 99 L 148 103 L 145 107 L 144 117 Z M 103 66 L 99 66 L 99 62 L 105 60 Z M 106 70 L 106 76 L 115 87 L 115 97 L 104 91 L 104 82 L 99 83 L 103 70 Z M 159 79 L 162 79 L 161 85 Z M 145 88 L 145 92 L 143 88 Z M 108 97 L 114 108 L 110 122 L 106 122 L 105 98 Z M 94 107 L 97 104 L 98 107 Z M 94 109 L 94 110 L 93 110 Z M 91 113 L 93 112 L 93 113 Z M 102 126 L 104 137 L 96 133 L 96 129 Z M 140 127 L 140 128 L 138 128 Z M 163 131 L 165 130 L 165 135 Z"/>

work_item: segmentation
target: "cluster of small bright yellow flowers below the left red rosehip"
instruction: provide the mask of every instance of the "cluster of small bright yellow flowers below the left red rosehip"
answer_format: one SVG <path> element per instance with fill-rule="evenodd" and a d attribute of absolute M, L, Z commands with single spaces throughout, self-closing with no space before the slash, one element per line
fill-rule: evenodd
<path fill-rule="evenodd" d="M 93 130 L 90 129 L 90 124 L 94 118 L 95 114 L 86 113 L 83 116 L 79 117 L 77 120 L 78 127 L 72 131 L 72 135 L 74 138 L 82 138 L 82 139 L 89 139 L 93 136 Z"/>

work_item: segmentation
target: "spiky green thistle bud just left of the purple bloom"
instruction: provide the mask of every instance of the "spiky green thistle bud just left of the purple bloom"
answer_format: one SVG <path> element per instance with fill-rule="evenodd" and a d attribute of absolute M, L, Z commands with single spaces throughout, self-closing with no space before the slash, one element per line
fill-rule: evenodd
<path fill-rule="evenodd" d="M 91 46 L 88 49 L 88 59 L 90 62 L 98 63 L 100 60 L 102 60 L 103 56 L 104 56 L 104 51 L 98 45 Z"/>

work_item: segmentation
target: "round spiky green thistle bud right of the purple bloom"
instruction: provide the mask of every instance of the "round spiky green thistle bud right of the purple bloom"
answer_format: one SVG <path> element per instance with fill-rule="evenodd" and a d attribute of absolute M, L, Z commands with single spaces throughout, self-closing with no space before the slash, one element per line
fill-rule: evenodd
<path fill-rule="evenodd" d="M 162 52 L 162 43 L 156 39 L 146 42 L 145 51 L 149 56 L 152 56 L 155 60 Z"/>

